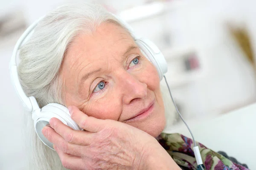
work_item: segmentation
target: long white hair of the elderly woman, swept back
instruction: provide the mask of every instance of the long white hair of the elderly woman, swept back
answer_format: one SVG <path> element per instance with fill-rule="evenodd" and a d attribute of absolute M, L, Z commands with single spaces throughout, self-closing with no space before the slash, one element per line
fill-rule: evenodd
<path fill-rule="evenodd" d="M 70 43 L 79 33 L 90 34 L 103 23 L 125 28 L 108 11 L 92 3 L 73 3 L 47 14 L 20 49 L 18 75 L 27 96 L 34 96 L 42 108 L 49 103 L 65 105 L 59 76 L 61 62 Z M 126 28 L 125 28 L 126 29 Z M 126 29 L 127 30 L 127 29 Z M 163 94 L 166 114 L 173 111 Z M 25 113 L 25 139 L 29 170 L 64 170 L 58 154 L 41 142 L 35 133 L 31 113 Z M 167 116 L 172 121 L 173 114 Z M 172 116 L 172 117 L 170 117 Z"/>

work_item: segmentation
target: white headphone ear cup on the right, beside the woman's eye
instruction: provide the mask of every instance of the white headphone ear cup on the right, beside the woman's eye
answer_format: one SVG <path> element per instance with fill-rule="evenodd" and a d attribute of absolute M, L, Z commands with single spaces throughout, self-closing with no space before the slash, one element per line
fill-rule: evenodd
<path fill-rule="evenodd" d="M 164 74 L 166 74 L 168 65 L 163 54 L 159 48 L 148 39 L 138 39 L 135 40 L 136 44 L 139 46 L 141 52 L 149 61 L 157 68 L 157 72 L 160 80 L 163 79 Z"/>

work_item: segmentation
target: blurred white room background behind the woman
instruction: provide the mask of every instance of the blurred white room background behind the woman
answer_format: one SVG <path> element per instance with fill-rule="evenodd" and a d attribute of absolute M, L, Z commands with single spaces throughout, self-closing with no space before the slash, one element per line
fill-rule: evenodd
<path fill-rule="evenodd" d="M 120 15 L 158 45 L 187 120 L 210 119 L 256 102 L 253 0 L 90 1 Z M 14 45 L 31 23 L 67 2 L 71 0 L 0 0 L 0 170 L 21 170 L 24 164 L 23 108 L 8 70 Z M 175 124 L 179 122 L 177 118 Z"/>

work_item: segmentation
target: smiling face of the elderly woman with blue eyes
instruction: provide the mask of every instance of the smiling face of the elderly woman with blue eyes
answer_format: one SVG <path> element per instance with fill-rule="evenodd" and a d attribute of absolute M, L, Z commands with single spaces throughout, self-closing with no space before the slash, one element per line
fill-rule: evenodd
<path fill-rule="evenodd" d="M 107 23 L 80 34 L 61 66 L 66 106 L 88 116 L 113 119 L 156 137 L 165 126 L 157 70 L 130 34 Z"/>

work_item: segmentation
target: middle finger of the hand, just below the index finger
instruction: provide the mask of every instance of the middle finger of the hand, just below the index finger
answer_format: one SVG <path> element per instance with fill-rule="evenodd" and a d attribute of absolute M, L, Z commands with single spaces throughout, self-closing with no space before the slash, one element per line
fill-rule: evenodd
<path fill-rule="evenodd" d="M 67 142 L 79 145 L 89 145 L 93 142 L 94 133 L 73 130 L 57 118 L 50 119 L 49 123 L 55 132 L 61 135 Z"/>

